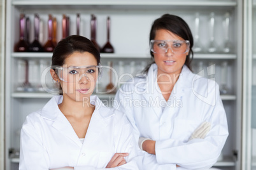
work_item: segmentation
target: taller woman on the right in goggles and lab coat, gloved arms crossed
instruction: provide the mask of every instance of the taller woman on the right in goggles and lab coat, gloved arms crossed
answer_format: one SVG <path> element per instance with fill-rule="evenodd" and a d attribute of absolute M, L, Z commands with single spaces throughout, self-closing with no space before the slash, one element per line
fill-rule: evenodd
<path fill-rule="evenodd" d="M 218 84 L 192 73 L 192 46 L 187 23 L 162 15 L 150 31 L 153 62 L 115 97 L 145 151 L 144 169 L 208 169 L 224 147 L 227 118 Z"/>

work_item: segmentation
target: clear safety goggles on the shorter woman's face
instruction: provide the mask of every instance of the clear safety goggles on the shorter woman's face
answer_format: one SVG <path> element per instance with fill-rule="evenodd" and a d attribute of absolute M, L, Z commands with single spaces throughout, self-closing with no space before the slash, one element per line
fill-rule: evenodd
<path fill-rule="evenodd" d="M 53 67 L 52 69 L 55 69 L 60 80 L 75 83 L 81 81 L 83 77 L 90 82 L 97 81 L 101 77 L 103 67 L 101 65 L 89 65 L 80 67 Z"/>

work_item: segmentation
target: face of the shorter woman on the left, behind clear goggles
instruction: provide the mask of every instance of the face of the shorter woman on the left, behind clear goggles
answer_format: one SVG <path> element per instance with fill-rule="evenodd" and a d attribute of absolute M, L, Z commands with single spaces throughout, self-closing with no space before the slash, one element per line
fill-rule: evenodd
<path fill-rule="evenodd" d="M 97 66 L 97 60 L 91 53 L 84 52 L 79 53 L 75 52 L 72 55 L 69 55 L 63 67 L 82 67 L 82 66 Z M 93 72 L 96 72 L 96 79 L 92 79 Z M 69 76 L 69 81 L 60 81 L 62 87 L 63 97 L 71 98 L 75 101 L 83 101 L 86 98 L 89 98 L 94 91 L 97 80 L 97 70 L 83 68 L 76 71 L 76 69 L 69 69 L 64 74 Z M 71 77 L 74 77 L 74 79 Z M 72 81 L 71 81 L 72 80 Z"/>

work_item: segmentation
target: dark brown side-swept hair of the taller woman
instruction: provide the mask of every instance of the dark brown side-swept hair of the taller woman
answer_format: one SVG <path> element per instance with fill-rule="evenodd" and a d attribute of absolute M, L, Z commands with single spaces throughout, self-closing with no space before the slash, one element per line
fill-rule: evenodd
<path fill-rule="evenodd" d="M 160 30 L 160 29 L 169 30 L 170 32 L 173 32 L 173 34 L 176 34 L 176 36 L 179 36 L 179 37 L 189 41 L 189 43 L 190 43 L 189 53 L 185 60 L 185 65 L 187 65 L 188 69 L 192 70 L 190 64 L 194 57 L 194 53 L 192 51 L 194 40 L 193 40 L 191 30 L 188 27 L 188 24 L 182 18 L 180 18 L 180 16 L 164 14 L 160 18 L 157 18 L 157 20 L 155 20 L 153 22 L 153 25 L 150 30 L 150 39 L 149 40 L 155 39 L 155 34 L 156 34 L 157 30 Z M 150 55 L 152 56 L 152 63 L 155 63 L 155 61 L 153 60 L 153 52 L 152 51 L 150 51 Z M 150 68 L 152 63 L 150 63 L 145 68 L 144 72 L 148 72 L 148 69 Z"/>

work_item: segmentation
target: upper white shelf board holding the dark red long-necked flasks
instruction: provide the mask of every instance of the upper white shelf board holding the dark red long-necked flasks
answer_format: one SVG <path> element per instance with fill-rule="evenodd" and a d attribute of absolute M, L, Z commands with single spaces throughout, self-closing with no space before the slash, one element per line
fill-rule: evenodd
<path fill-rule="evenodd" d="M 12 53 L 13 58 L 52 58 L 52 53 Z M 143 54 L 101 53 L 102 58 L 150 58 Z M 236 59 L 234 54 L 194 54 L 194 59 Z"/>

